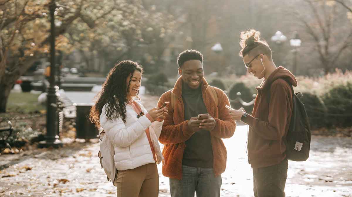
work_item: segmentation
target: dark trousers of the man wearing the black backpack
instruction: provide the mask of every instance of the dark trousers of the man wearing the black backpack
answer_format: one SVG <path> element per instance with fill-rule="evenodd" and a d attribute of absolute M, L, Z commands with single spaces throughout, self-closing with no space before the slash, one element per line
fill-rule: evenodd
<path fill-rule="evenodd" d="M 265 168 L 253 168 L 254 197 L 285 197 L 288 161 Z"/>

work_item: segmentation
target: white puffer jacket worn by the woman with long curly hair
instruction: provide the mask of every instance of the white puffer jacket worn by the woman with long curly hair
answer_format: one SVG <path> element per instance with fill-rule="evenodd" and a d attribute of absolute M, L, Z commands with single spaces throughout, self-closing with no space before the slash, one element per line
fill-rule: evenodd
<path fill-rule="evenodd" d="M 142 103 L 139 100 L 134 101 L 138 103 L 143 113 L 147 114 Z M 148 127 L 157 163 L 159 164 L 163 159 L 158 138 L 164 121 L 151 123 L 146 116 L 137 118 L 137 115 L 132 106 L 126 104 L 126 122 L 124 123 L 121 116 L 116 120 L 107 120 L 105 106 L 102 109 L 100 125 L 105 131 L 105 137 L 108 137 L 114 145 L 114 163 L 117 170 L 128 170 L 147 163 L 155 163 L 145 133 Z"/>

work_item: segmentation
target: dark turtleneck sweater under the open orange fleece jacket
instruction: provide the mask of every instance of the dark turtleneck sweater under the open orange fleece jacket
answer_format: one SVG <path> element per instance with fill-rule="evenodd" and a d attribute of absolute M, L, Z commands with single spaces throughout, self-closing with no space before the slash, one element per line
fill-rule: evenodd
<path fill-rule="evenodd" d="M 184 104 L 184 120 L 189 120 L 191 117 L 198 116 L 198 114 L 208 113 L 203 102 L 201 86 L 198 89 L 191 89 L 187 84 L 183 84 L 182 100 Z M 183 165 L 213 168 L 213 148 L 209 131 L 197 131 L 185 143 Z"/>

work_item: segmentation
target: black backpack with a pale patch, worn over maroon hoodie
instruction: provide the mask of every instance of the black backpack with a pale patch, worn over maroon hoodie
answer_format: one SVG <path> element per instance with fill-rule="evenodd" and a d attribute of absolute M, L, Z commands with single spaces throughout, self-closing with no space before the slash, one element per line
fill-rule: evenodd
<path fill-rule="evenodd" d="M 306 161 L 309 157 L 312 134 L 310 132 L 306 109 L 304 108 L 302 101 L 299 99 L 303 94 L 301 92 L 295 93 L 291 83 L 287 80 L 285 81 L 290 85 L 292 93 L 294 93 L 292 95 L 293 108 L 291 122 L 285 139 L 286 158 L 296 162 Z M 270 102 L 270 89 L 268 95 L 268 102 Z"/>

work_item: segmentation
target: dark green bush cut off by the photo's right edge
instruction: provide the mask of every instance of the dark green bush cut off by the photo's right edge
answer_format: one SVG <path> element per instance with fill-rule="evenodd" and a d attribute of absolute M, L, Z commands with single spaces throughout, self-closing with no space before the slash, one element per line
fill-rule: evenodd
<path fill-rule="evenodd" d="M 323 95 L 322 99 L 328 110 L 328 127 L 352 126 L 352 83 L 339 85 Z"/>

